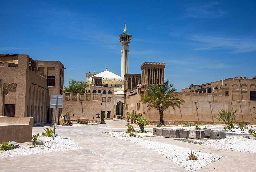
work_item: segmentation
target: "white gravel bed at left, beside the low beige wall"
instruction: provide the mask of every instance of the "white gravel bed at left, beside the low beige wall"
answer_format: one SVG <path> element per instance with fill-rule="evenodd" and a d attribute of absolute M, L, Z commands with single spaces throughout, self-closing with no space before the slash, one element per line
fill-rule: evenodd
<path fill-rule="evenodd" d="M 20 145 L 20 148 L 11 149 L 7 151 L 0 151 L 0 158 L 20 156 L 20 155 L 31 155 L 38 153 L 47 153 L 47 152 L 58 152 L 58 151 L 67 151 L 67 150 L 77 150 L 83 149 L 79 144 L 74 142 L 68 137 L 56 136 L 54 140 L 52 137 L 38 137 L 38 139 L 45 141 L 50 141 L 52 143 L 45 143 L 45 146 L 51 148 L 45 148 L 44 145 L 37 145 L 38 148 L 33 145 Z"/>

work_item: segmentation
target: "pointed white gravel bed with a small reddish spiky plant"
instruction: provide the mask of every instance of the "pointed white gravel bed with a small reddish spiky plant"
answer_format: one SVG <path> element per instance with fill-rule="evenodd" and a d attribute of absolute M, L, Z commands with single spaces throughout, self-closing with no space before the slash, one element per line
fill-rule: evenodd
<path fill-rule="evenodd" d="M 168 158 L 169 160 L 175 162 L 176 164 L 186 168 L 189 171 L 195 171 L 224 157 L 220 155 L 197 151 L 196 155 L 199 155 L 198 160 L 193 161 L 188 160 L 188 152 L 191 153 L 191 149 L 182 148 L 171 144 L 144 140 L 141 137 L 129 137 L 129 133 L 125 132 L 108 132 L 104 134 L 124 139 L 151 149 Z M 141 135 L 143 137 L 155 136 L 153 135 L 153 133 L 136 133 L 136 135 Z M 195 150 L 192 151 L 194 152 Z"/>

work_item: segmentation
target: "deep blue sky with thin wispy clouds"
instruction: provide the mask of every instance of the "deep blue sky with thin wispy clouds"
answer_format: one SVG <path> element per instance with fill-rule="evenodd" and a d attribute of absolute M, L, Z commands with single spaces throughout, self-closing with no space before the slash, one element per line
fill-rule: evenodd
<path fill-rule="evenodd" d="M 256 1 L 1 1 L 0 54 L 61 61 L 69 78 L 121 75 L 119 37 L 127 22 L 129 73 L 165 62 L 177 91 L 256 76 Z"/>

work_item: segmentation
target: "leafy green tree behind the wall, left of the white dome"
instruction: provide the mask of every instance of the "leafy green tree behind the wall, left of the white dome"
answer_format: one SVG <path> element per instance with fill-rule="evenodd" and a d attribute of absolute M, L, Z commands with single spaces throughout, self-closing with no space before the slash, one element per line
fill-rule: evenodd
<path fill-rule="evenodd" d="M 90 83 L 85 82 L 84 80 L 75 80 L 70 79 L 68 81 L 68 87 L 64 86 L 63 92 L 85 92 L 85 88 L 91 86 Z"/>

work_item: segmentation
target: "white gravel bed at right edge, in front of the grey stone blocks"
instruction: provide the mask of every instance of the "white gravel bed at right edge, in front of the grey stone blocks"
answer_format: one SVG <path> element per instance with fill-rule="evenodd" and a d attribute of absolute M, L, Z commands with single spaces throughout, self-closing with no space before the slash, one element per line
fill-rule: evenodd
<path fill-rule="evenodd" d="M 256 153 L 256 147 L 255 147 L 256 139 L 254 137 L 250 137 L 249 139 L 246 139 L 246 138 L 243 138 L 242 136 L 226 136 L 226 139 L 200 139 L 200 140 L 182 139 L 179 141 L 201 144 L 201 145 L 211 146 L 219 149 Z"/>

